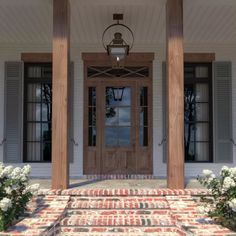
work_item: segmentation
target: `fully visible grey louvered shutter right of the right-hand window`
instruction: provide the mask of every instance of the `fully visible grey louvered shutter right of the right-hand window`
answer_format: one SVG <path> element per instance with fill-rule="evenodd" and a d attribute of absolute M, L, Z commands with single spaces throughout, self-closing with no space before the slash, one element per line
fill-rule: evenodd
<path fill-rule="evenodd" d="M 214 160 L 230 163 L 233 160 L 231 62 L 214 63 L 214 121 Z"/>

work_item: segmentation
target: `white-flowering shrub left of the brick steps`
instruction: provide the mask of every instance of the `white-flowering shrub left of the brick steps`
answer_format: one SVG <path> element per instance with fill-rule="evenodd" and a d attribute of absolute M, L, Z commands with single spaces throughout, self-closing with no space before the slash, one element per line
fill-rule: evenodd
<path fill-rule="evenodd" d="M 29 186 L 30 166 L 13 168 L 0 163 L 0 231 L 6 230 L 26 209 L 37 193 L 38 184 Z"/>

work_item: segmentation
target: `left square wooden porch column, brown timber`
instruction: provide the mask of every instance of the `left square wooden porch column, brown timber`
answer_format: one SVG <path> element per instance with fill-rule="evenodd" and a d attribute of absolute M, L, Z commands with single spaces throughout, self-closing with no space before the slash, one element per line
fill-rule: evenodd
<path fill-rule="evenodd" d="M 69 186 L 69 0 L 53 0 L 52 188 Z"/>

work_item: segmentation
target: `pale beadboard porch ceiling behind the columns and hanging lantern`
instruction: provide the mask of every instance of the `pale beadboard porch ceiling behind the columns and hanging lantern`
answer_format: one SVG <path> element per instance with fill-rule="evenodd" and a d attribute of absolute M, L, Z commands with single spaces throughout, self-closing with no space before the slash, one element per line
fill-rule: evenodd
<path fill-rule="evenodd" d="M 72 44 L 101 44 L 113 13 L 135 44 L 165 42 L 165 0 L 71 0 Z M 186 43 L 236 43 L 236 0 L 184 0 Z M 0 44 L 51 43 L 52 0 L 0 0 Z"/>

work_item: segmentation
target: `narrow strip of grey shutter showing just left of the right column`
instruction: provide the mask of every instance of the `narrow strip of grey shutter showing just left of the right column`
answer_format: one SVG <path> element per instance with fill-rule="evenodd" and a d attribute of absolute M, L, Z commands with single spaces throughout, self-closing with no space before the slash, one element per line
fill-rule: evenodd
<path fill-rule="evenodd" d="M 167 150 L 166 150 L 166 141 L 167 141 L 167 130 L 166 130 L 166 62 L 162 63 L 162 113 L 163 113 L 163 161 L 166 162 Z"/>

